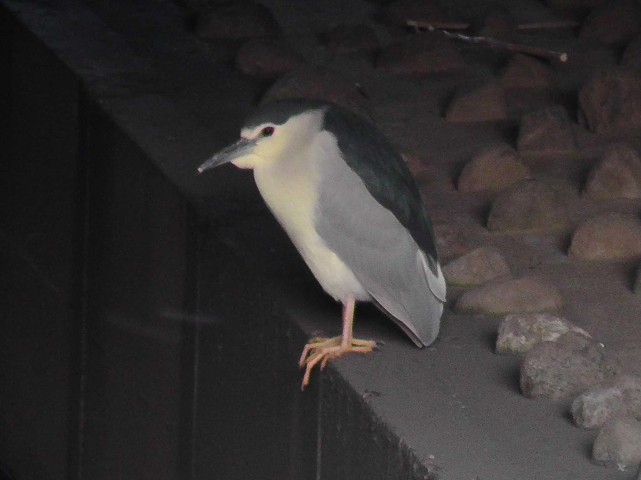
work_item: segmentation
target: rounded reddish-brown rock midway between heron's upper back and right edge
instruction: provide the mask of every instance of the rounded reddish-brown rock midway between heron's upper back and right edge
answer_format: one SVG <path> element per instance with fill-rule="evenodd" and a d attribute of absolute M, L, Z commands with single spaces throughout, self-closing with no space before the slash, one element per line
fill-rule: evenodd
<path fill-rule="evenodd" d="M 498 145 L 481 152 L 463 167 L 458 191 L 500 190 L 528 179 L 529 175 L 529 168 L 520 162 L 517 152 L 507 145 Z"/>

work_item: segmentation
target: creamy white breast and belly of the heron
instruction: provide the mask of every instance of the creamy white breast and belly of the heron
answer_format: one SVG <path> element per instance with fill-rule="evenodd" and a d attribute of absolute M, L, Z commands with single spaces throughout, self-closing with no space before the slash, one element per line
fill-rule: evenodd
<path fill-rule="evenodd" d="M 303 256 L 323 289 L 335 300 L 347 296 L 369 300 L 370 296 L 354 273 L 316 233 L 314 212 L 317 207 L 317 162 L 322 161 L 326 138 L 319 136 L 311 148 L 301 152 L 297 161 L 254 168 L 254 179 L 263 199 Z M 317 152 L 314 157 L 310 152 Z M 273 168 L 272 168 L 273 167 Z"/>

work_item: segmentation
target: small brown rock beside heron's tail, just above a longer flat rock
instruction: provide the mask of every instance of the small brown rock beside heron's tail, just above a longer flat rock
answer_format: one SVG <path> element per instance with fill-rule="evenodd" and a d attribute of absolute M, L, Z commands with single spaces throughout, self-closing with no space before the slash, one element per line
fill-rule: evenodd
<path fill-rule="evenodd" d="M 443 275 L 448 284 L 469 286 L 485 284 L 492 278 L 511 274 L 499 250 L 481 247 L 449 262 L 443 268 Z"/>

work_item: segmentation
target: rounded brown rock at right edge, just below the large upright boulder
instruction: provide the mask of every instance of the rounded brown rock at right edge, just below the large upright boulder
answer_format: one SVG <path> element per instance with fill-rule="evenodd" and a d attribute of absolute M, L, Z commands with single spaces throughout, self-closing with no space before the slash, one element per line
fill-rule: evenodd
<path fill-rule="evenodd" d="M 641 197 L 641 156 L 626 143 L 608 148 L 590 171 L 586 195 L 594 198 Z"/>

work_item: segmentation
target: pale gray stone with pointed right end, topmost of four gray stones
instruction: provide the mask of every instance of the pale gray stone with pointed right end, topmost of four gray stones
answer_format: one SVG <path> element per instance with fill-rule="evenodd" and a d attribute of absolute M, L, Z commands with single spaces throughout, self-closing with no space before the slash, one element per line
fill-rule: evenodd
<path fill-rule="evenodd" d="M 499 324 L 496 353 L 526 353 L 540 342 L 554 342 L 567 332 L 590 334 L 553 314 L 511 314 Z"/>

